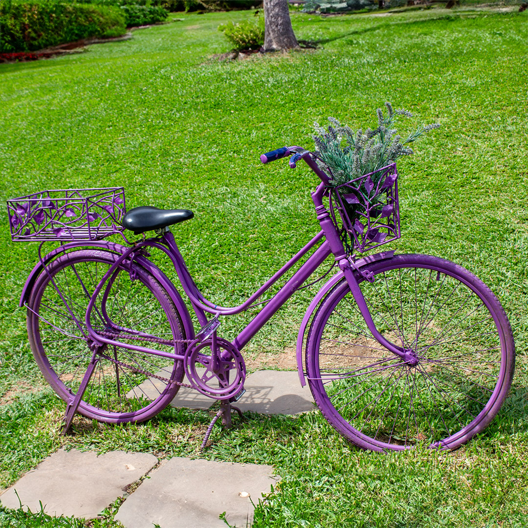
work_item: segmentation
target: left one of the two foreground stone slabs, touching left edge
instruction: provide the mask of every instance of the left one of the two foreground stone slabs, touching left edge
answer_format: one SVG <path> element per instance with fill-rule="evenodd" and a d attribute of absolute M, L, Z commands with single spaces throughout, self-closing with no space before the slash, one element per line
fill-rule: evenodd
<path fill-rule="evenodd" d="M 94 451 L 60 449 L 6 489 L 0 502 L 18 508 L 20 497 L 25 510 L 40 512 L 41 501 L 49 515 L 93 518 L 157 461 L 144 453 L 111 451 L 97 456 Z"/>

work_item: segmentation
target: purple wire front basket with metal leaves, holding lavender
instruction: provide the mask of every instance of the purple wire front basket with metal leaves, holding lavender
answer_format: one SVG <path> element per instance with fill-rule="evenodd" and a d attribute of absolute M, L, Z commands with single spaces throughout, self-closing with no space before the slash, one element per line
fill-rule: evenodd
<path fill-rule="evenodd" d="M 363 253 L 400 238 L 396 164 L 333 188 L 330 209 L 334 221 L 335 209 L 341 215 L 351 252 Z"/>

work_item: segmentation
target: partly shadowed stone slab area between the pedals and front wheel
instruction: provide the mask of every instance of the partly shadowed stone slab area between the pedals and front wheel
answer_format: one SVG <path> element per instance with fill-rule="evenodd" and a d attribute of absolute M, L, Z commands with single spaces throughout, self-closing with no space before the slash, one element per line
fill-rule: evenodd
<path fill-rule="evenodd" d="M 301 386 L 297 372 L 259 370 L 244 383 L 246 393 L 235 402 L 242 412 L 298 414 L 315 409 L 308 385 Z"/>

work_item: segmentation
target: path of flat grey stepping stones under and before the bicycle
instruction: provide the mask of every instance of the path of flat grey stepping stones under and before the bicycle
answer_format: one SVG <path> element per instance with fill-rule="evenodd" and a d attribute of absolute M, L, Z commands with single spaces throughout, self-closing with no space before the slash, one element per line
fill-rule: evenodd
<path fill-rule="evenodd" d="M 298 414 L 315 408 L 297 372 L 254 372 L 244 388 L 246 393 L 236 403 L 242 411 Z M 213 403 L 182 387 L 171 405 L 207 409 Z M 253 504 L 277 482 L 273 468 L 265 465 L 177 457 L 155 467 L 157 463 L 156 457 L 144 453 L 112 451 L 97 456 L 61 449 L 3 492 L 0 502 L 18 508 L 20 497 L 32 512 L 40 511 L 40 501 L 49 515 L 93 518 L 148 474 L 115 516 L 126 528 L 153 523 L 161 528 L 226 526 L 219 519 L 222 512 L 229 524 L 250 526 Z"/>

